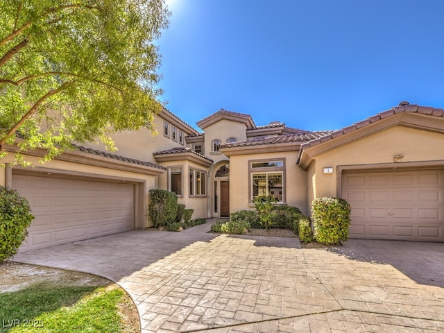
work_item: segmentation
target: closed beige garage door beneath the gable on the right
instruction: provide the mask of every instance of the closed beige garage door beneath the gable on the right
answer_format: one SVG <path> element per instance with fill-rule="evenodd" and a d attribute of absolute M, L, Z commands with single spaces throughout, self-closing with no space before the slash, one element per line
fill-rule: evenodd
<path fill-rule="evenodd" d="M 444 241 L 444 172 L 343 173 L 351 238 Z"/>

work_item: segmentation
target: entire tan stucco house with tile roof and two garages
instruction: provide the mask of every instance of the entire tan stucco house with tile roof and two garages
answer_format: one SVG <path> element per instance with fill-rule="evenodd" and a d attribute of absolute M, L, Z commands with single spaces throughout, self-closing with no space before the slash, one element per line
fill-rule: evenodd
<path fill-rule="evenodd" d="M 253 209 L 259 195 L 310 214 L 314 198 L 337 196 L 352 206 L 350 237 L 444 241 L 442 109 L 402 102 L 318 132 L 257 126 L 227 110 L 198 121 L 201 132 L 168 110 L 155 122 L 155 137 L 116 133 L 116 153 L 89 144 L 33 169 L 3 169 L 0 185 L 29 198 L 36 216 L 20 250 L 148 228 L 155 188 L 176 192 L 193 218 Z"/>

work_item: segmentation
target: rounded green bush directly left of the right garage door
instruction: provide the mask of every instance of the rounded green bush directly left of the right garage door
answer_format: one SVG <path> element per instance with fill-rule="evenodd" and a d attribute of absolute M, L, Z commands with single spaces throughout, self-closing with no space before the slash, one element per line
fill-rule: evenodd
<path fill-rule="evenodd" d="M 311 203 L 314 239 L 323 244 L 348 240 L 350 205 L 341 198 L 317 198 Z"/>

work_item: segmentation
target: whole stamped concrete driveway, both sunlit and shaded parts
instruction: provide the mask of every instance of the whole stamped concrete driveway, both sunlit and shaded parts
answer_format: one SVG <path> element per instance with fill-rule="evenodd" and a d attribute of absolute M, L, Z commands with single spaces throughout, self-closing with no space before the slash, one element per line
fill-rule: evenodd
<path fill-rule="evenodd" d="M 444 244 L 132 231 L 15 256 L 102 275 L 142 332 L 443 332 Z"/>

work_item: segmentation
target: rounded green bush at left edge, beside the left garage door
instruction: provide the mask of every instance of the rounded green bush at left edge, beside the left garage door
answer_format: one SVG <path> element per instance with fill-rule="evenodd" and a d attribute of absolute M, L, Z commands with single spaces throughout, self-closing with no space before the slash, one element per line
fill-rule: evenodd
<path fill-rule="evenodd" d="M 17 253 L 34 219 L 28 200 L 0 186 L 0 262 Z"/>

